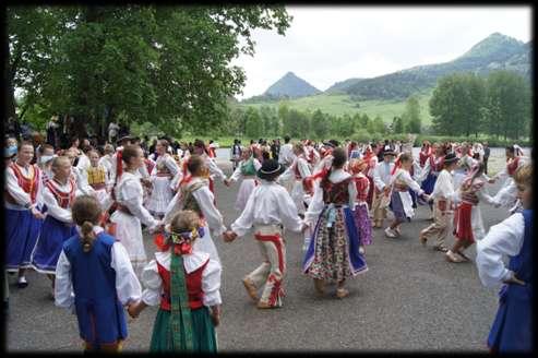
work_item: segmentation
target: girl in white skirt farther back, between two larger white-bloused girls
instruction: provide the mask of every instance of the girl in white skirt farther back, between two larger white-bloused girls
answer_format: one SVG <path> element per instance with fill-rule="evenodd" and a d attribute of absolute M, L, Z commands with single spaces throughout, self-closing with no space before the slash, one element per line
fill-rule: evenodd
<path fill-rule="evenodd" d="M 153 215 L 163 217 L 166 213 L 166 207 L 174 198 L 174 191 L 170 187 L 174 178 L 180 172 L 179 166 L 170 154 L 166 152 L 168 141 L 157 141 L 156 151 L 158 157 L 151 174 L 152 193 L 146 201 L 146 208 Z"/>

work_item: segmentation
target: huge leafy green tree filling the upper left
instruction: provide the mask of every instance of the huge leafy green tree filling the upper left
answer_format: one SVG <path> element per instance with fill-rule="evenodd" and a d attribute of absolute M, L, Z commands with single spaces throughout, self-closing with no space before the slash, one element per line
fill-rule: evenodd
<path fill-rule="evenodd" d="M 229 62 L 253 55 L 251 31 L 283 35 L 291 21 L 284 7 L 265 5 L 31 8 L 24 17 L 25 11 L 10 9 L 12 77 L 37 79 L 27 86 L 29 103 L 36 98 L 101 132 L 120 116 L 198 132 L 215 127 L 244 84 L 242 69 Z M 34 25 L 38 15 L 50 25 Z M 17 53 L 44 63 L 14 65 L 22 63 Z"/>

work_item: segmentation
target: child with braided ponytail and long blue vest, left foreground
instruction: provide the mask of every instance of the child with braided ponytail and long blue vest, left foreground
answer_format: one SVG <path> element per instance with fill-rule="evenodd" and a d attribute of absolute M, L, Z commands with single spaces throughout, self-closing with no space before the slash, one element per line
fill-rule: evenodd
<path fill-rule="evenodd" d="M 117 353 L 128 336 L 123 306 L 142 289 L 123 246 L 98 226 L 103 210 L 79 196 L 72 216 L 76 234 L 63 243 L 56 267 L 56 306 L 76 313 L 84 350 Z"/>

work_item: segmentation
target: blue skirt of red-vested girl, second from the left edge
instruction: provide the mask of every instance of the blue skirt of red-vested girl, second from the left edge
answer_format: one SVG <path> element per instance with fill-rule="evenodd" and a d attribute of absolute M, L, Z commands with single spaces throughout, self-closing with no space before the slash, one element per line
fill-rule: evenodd
<path fill-rule="evenodd" d="M 37 272 L 55 274 L 63 242 L 74 235 L 76 235 L 74 225 L 47 216 L 41 225 L 34 252 L 32 252 L 32 266 Z"/>

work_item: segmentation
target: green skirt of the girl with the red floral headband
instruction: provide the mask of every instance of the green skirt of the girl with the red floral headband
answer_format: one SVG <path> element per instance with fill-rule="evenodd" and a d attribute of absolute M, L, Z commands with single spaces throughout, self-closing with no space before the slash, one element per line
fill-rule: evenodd
<path fill-rule="evenodd" d="M 193 329 L 193 351 L 195 353 L 216 353 L 217 339 L 215 336 L 215 327 L 210 317 L 207 307 L 202 307 L 196 310 L 191 310 L 192 329 Z M 186 350 L 184 327 L 181 324 L 181 347 L 174 346 L 170 327 L 171 312 L 159 309 L 155 323 L 153 325 L 152 344 L 150 351 L 176 351 Z"/>

